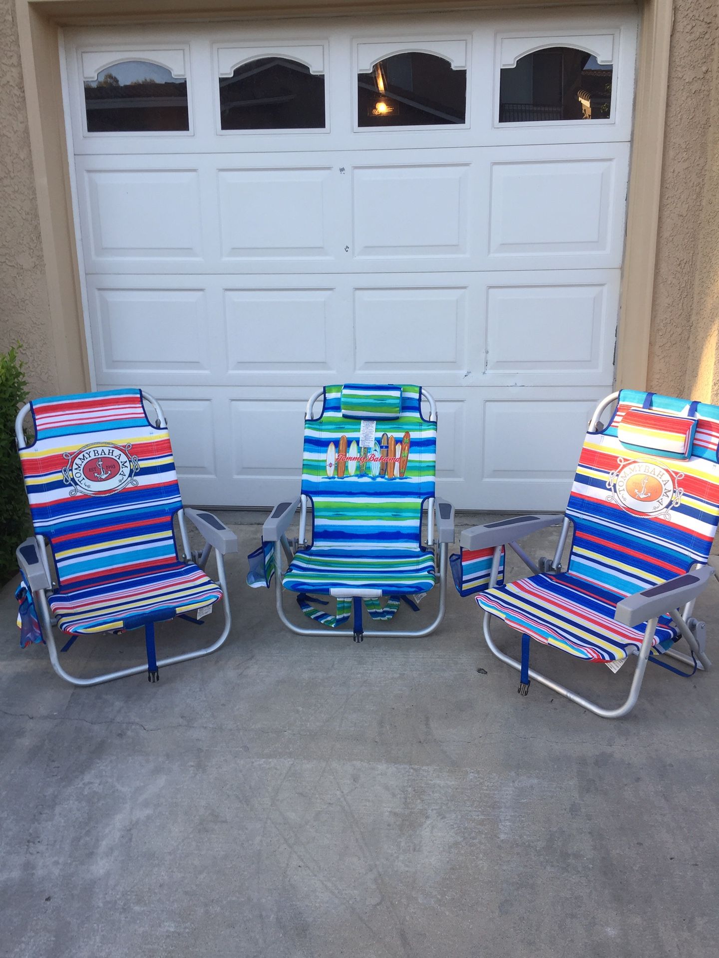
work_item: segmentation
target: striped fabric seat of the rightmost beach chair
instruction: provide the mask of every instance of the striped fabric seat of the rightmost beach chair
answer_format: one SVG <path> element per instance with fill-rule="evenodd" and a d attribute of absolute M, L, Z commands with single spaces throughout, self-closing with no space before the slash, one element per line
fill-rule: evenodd
<path fill-rule="evenodd" d="M 476 596 L 481 608 L 508 626 L 592 662 L 614 662 L 638 653 L 644 626 L 615 622 L 616 604 L 621 599 L 570 573 L 530 576 Z M 654 648 L 661 652 L 678 637 L 671 618 L 661 616 Z"/>

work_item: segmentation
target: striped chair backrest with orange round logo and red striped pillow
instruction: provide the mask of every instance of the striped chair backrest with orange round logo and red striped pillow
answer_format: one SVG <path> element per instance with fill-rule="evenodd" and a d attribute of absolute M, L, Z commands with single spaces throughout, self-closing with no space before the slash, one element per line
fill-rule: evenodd
<path fill-rule="evenodd" d="M 622 390 L 588 432 L 568 571 L 626 596 L 706 563 L 719 521 L 719 406 Z"/>

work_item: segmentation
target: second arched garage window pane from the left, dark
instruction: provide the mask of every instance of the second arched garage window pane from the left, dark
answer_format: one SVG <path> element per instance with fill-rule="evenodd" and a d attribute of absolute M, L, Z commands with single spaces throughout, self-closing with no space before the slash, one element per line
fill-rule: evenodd
<path fill-rule="evenodd" d="M 284 57 L 261 57 L 220 77 L 222 129 L 324 129 L 325 78 Z"/>

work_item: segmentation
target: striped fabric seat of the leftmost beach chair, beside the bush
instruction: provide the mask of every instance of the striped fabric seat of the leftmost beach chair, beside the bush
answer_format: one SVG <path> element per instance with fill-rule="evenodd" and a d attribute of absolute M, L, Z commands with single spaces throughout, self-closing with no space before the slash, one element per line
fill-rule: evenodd
<path fill-rule="evenodd" d="M 110 632 L 174 619 L 221 597 L 220 586 L 197 565 L 176 562 L 120 582 L 60 589 L 48 603 L 63 632 Z"/>

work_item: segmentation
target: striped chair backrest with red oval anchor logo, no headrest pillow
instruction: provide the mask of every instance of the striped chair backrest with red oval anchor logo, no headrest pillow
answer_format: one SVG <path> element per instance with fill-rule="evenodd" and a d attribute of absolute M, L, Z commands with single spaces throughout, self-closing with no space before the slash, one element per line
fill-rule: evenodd
<path fill-rule="evenodd" d="M 177 560 L 182 507 L 167 428 L 139 389 L 35 399 L 35 440 L 21 446 L 35 533 L 64 586 L 117 581 Z"/>

